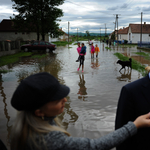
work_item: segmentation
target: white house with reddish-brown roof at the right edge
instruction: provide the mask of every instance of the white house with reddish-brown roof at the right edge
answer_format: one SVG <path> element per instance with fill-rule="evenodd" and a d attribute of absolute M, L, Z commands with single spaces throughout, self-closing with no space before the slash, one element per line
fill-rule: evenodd
<path fill-rule="evenodd" d="M 141 24 L 129 24 L 128 41 L 138 43 L 141 35 Z M 150 42 L 150 24 L 142 24 L 142 42 Z"/>

